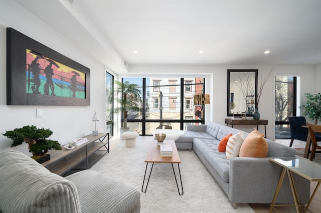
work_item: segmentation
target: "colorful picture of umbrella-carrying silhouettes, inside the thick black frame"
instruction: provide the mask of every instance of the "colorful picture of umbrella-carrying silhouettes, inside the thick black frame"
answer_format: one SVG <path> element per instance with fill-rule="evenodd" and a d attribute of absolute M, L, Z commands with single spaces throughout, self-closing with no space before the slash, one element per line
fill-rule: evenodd
<path fill-rule="evenodd" d="M 85 98 L 86 74 L 27 49 L 27 93 Z"/>

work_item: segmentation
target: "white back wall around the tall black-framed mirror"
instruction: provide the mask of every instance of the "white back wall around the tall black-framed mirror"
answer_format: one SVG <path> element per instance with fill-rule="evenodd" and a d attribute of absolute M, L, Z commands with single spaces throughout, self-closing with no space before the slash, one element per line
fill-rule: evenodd
<path fill-rule="evenodd" d="M 273 69 L 272 74 L 264 85 L 258 106 L 261 119 L 268 119 L 269 124 L 266 126 L 266 134 L 270 139 L 274 139 L 275 134 L 275 75 L 295 74 L 301 76 L 301 104 L 304 101 L 304 92 L 316 92 L 314 87 L 315 66 L 313 65 L 130 65 L 128 71 L 132 75 L 144 74 L 144 76 L 159 73 L 163 76 L 178 75 L 177 73 L 181 73 L 180 76 L 191 74 L 205 75 L 208 80 L 205 92 L 211 94 L 211 104 L 206 105 L 208 108 L 205 116 L 209 117 L 206 123 L 214 121 L 225 124 L 227 116 L 227 69 L 258 69 L 258 85 L 261 83 L 261 73 L 264 78 Z M 235 127 L 244 131 L 251 131 L 253 129 L 253 126 L 247 125 Z M 264 132 L 264 127 L 259 126 L 259 130 Z"/>

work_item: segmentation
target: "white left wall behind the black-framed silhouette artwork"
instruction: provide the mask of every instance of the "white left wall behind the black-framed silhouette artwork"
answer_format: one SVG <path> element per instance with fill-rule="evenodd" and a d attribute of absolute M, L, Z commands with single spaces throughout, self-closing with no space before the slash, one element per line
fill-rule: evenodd
<path fill-rule="evenodd" d="M 57 14 L 58 15 L 58 14 Z M 62 20 L 63 21 L 63 20 Z M 90 68 L 90 106 L 38 106 L 6 104 L 6 27 L 13 27 L 44 45 Z M 105 132 L 105 72 L 104 65 L 66 39 L 45 22 L 24 9 L 16 1 L 1 2 L 0 6 L 0 133 L 24 125 L 50 128 L 51 139 L 65 144 L 71 139 L 90 134 L 94 109 L 100 117 L 99 132 Z M 36 118 L 36 108 L 43 109 L 43 117 Z M 12 140 L 0 134 L 0 152 L 10 148 Z M 13 147 L 31 155 L 27 144 Z"/>

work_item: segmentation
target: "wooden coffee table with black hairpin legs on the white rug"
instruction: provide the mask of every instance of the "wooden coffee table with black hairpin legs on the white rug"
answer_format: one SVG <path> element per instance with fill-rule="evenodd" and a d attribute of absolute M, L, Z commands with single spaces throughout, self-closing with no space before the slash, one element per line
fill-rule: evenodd
<path fill-rule="evenodd" d="M 141 186 L 141 191 L 146 193 L 148 182 L 149 182 L 149 178 L 150 178 L 150 174 L 151 174 L 152 167 L 153 167 L 154 163 L 172 163 L 177 189 L 179 191 L 179 194 L 183 195 L 184 191 L 183 191 L 183 184 L 182 184 L 182 178 L 181 178 L 181 170 L 180 170 L 181 159 L 180 159 L 180 156 L 179 156 L 179 152 L 177 151 L 176 144 L 175 144 L 174 140 L 164 140 L 164 141 L 166 142 L 166 145 L 171 145 L 172 146 L 173 156 L 172 157 L 161 157 L 161 152 L 159 151 L 160 146 L 156 144 L 157 140 L 153 140 L 153 144 L 149 147 L 148 154 L 147 154 L 146 159 L 145 159 L 146 169 L 145 169 L 144 179 L 143 179 L 142 186 Z M 151 165 L 150 172 L 149 172 L 149 175 L 148 175 L 148 180 L 147 180 L 147 184 L 146 184 L 145 190 L 143 190 L 145 177 L 146 177 L 147 166 L 148 166 L 149 162 L 151 162 L 152 165 Z M 179 184 L 177 183 L 177 178 L 176 178 L 176 174 L 175 174 L 173 163 L 177 163 L 178 168 L 179 168 L 182 193 L 180 192 Z"/>

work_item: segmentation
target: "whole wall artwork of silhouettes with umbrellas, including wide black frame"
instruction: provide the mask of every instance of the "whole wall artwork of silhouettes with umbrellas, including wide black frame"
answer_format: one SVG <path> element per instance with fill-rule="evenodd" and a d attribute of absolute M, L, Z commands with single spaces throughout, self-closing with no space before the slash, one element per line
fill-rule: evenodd
<path fill-rule="evenodd" d="M 90 105 L 90 69 L 7 28 L 7 105 Z"/>

